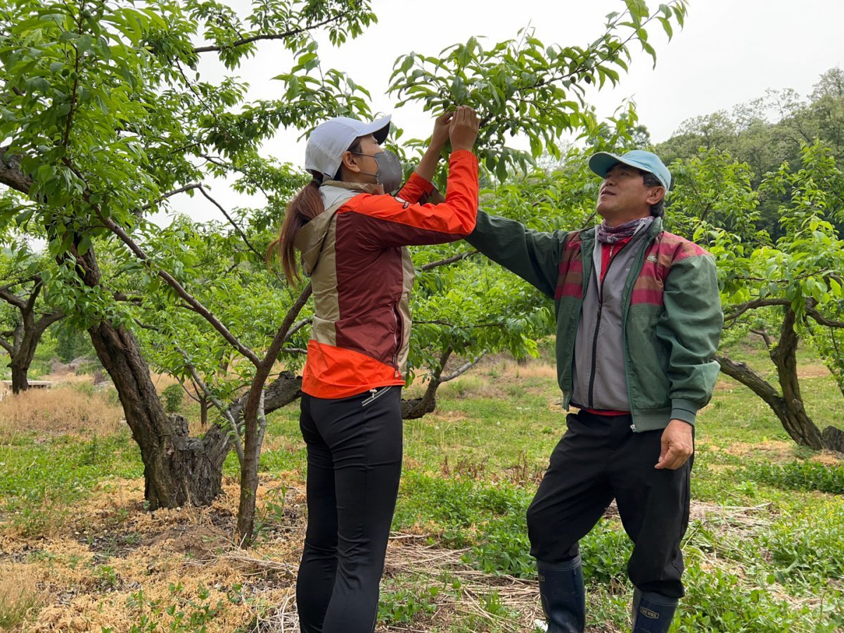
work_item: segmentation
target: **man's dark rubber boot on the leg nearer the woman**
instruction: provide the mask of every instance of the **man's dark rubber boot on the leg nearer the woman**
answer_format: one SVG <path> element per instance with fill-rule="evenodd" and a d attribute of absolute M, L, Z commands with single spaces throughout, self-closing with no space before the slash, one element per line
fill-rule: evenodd
<path fill-rule="evenodd" d="M 539 598 L 548 618 L 548 633 L 583 633 L 586 628 L 586 590 L 581 558 L 564 563 L 536 564 Z"/>

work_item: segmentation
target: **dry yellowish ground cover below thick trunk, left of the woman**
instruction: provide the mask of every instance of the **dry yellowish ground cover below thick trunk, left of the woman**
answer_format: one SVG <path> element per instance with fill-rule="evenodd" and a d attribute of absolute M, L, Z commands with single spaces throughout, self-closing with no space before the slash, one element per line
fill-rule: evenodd
<path fill-rule="evenodd" d="M 151 624 L 223 633 L 251 630 L 277 605 L 292 606 L 304 484 L 262 481 L 258 513 L 269 500 L 284 511 L 273 512 L 248 553 L 234 546 L 238 495 L 237 485 L 226 483 L 210 507 L 149 512 L 143 480 L 122 479 L 68 508 L 49 539 L 0 533 L 0 579 L 25 576 L 32 589 L 15 598 L 19 630 L 117 632 Z M 27 596 L 38 598 L 36 609 Z"/>

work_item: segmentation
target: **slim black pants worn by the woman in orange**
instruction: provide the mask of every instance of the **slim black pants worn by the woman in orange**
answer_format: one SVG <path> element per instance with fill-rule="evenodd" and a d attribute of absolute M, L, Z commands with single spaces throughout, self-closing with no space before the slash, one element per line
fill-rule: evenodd
<path fill-rule="evenodd" d="M 401 387 L 303 396 L 308 526 L 296 581 L 303 633 L 371 633 L 402 470 Z"/>

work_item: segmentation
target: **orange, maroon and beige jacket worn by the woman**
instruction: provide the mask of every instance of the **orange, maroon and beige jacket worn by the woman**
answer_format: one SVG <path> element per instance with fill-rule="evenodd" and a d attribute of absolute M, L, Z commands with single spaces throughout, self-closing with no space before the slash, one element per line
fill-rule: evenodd
<path fill-rule="evenodd" d="M 452 153 L 445 203 L 425 203 L 434 186 L 416 174 L 398 197 L 373 190 L 324 182 L 326 210 L 295 236 L 314 293 L 302 391 L 317 398 L 404 384 L 414 282 L 406 246 L 457 241 L 472 232 L 478 160 L 465 150 Z"/>

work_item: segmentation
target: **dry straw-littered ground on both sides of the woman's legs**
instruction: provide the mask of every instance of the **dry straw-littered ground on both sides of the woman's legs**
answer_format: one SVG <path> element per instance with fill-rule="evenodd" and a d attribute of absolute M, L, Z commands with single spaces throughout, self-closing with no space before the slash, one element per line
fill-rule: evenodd
<path fill-rule="evenodd" d="M 143 480 L 116 480 L 74 507 L 49 538 L 6 530 L 0 536 L 0 595 L 29 592 L 40 609 L 34 622 L 13 630 L 198 630 L 189 619 L 209 610 L 216 614 L 202 620 L 208 631 L 298 630 L 295 573 L 305 527 L 300 473 L 282 473 L 261 485 L 257 507 L 272 500 L 275 510 L 272 527 L 259 533 L 253 549 L 234 544 L 237 495 L 229 483 L 211 507 L 149 512 L 143 509 Z M 424 534 L 393 534 L 385 578 L 414 576 L 419 582 L 421 574 L 436 583 L 447 571 L 461 579 L 461 595 L 436 598 L 431 626 L 465 614 L 483 617 L 481 600 L 494 586 L 533 628 L 539 615 L 535 583 L 484 576 L 463 565 L 461 555 L 430 546 Z M 174 613 L 167 613 L 173 605 Z M 141 628 L 153 621 L 160 628 Z M 184 628 L 170 628 L 178 625 Z M 417 629 L 379 629 L 388 630 Z"/>

